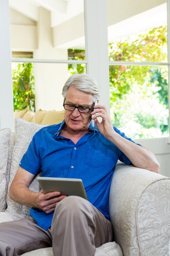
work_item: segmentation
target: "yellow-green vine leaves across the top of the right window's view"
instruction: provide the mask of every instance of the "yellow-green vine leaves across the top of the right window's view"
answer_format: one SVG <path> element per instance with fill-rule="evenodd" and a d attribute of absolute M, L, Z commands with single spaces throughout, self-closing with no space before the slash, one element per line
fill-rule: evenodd
<path fill-rule="evenodd" d="M 110 61 L 166 62 L 167 28 L 159 27 L 137 36 L 109 43 Z M 124 93 L 132 91 L 134 80 L 139 86 L 149 77 L 149 66 L 115 66 L 110 65 L 111 101 L 121 98 Z"/>

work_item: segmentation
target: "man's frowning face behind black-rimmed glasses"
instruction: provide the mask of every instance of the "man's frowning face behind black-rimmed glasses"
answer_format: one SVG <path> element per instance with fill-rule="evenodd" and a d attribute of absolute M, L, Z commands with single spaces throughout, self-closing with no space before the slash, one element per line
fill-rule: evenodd
<path fill-rule="evenodd" d="M 74 106 L 86 106 L 91 108 L 94 103 L 93 95 L 88 92 L 80 91 L 73 86 L 68 88 L 65 102 Z M 73 111 L 65 110 L 65 121 L 69 129 L 73 131 L 87 130 L 91 122 L 91 111 L 80 113 L 77 108 Z"/>

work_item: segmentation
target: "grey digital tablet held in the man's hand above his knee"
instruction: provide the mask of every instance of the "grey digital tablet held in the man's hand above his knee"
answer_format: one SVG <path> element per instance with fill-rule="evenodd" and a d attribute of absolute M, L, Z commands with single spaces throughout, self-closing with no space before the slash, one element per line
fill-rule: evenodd
<path fill-rule="evenodd" d="M 87 199 L 86 191 L 81 179 L 38 177 L 38 182 L 42 191 L 60 191 L 62 195 L 77 195 Z"/>

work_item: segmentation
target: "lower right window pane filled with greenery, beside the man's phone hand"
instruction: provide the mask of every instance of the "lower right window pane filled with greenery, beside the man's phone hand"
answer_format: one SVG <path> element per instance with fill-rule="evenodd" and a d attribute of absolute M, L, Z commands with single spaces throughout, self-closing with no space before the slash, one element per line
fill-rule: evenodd
<path fill-rule="evenodd" d="M 169 136 L 168 67 L 110 66 L 110 113 L 129 137 Z"/>

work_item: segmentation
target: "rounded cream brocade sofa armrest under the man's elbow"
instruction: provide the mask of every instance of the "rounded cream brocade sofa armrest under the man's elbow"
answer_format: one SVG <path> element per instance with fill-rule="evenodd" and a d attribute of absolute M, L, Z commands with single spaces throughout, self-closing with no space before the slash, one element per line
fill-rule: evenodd
<path fill-rule="evenodd" d="M 118 164 L 110 187 L 109 214 L 124 256 L 169 255 L 170 178 Z"/>

